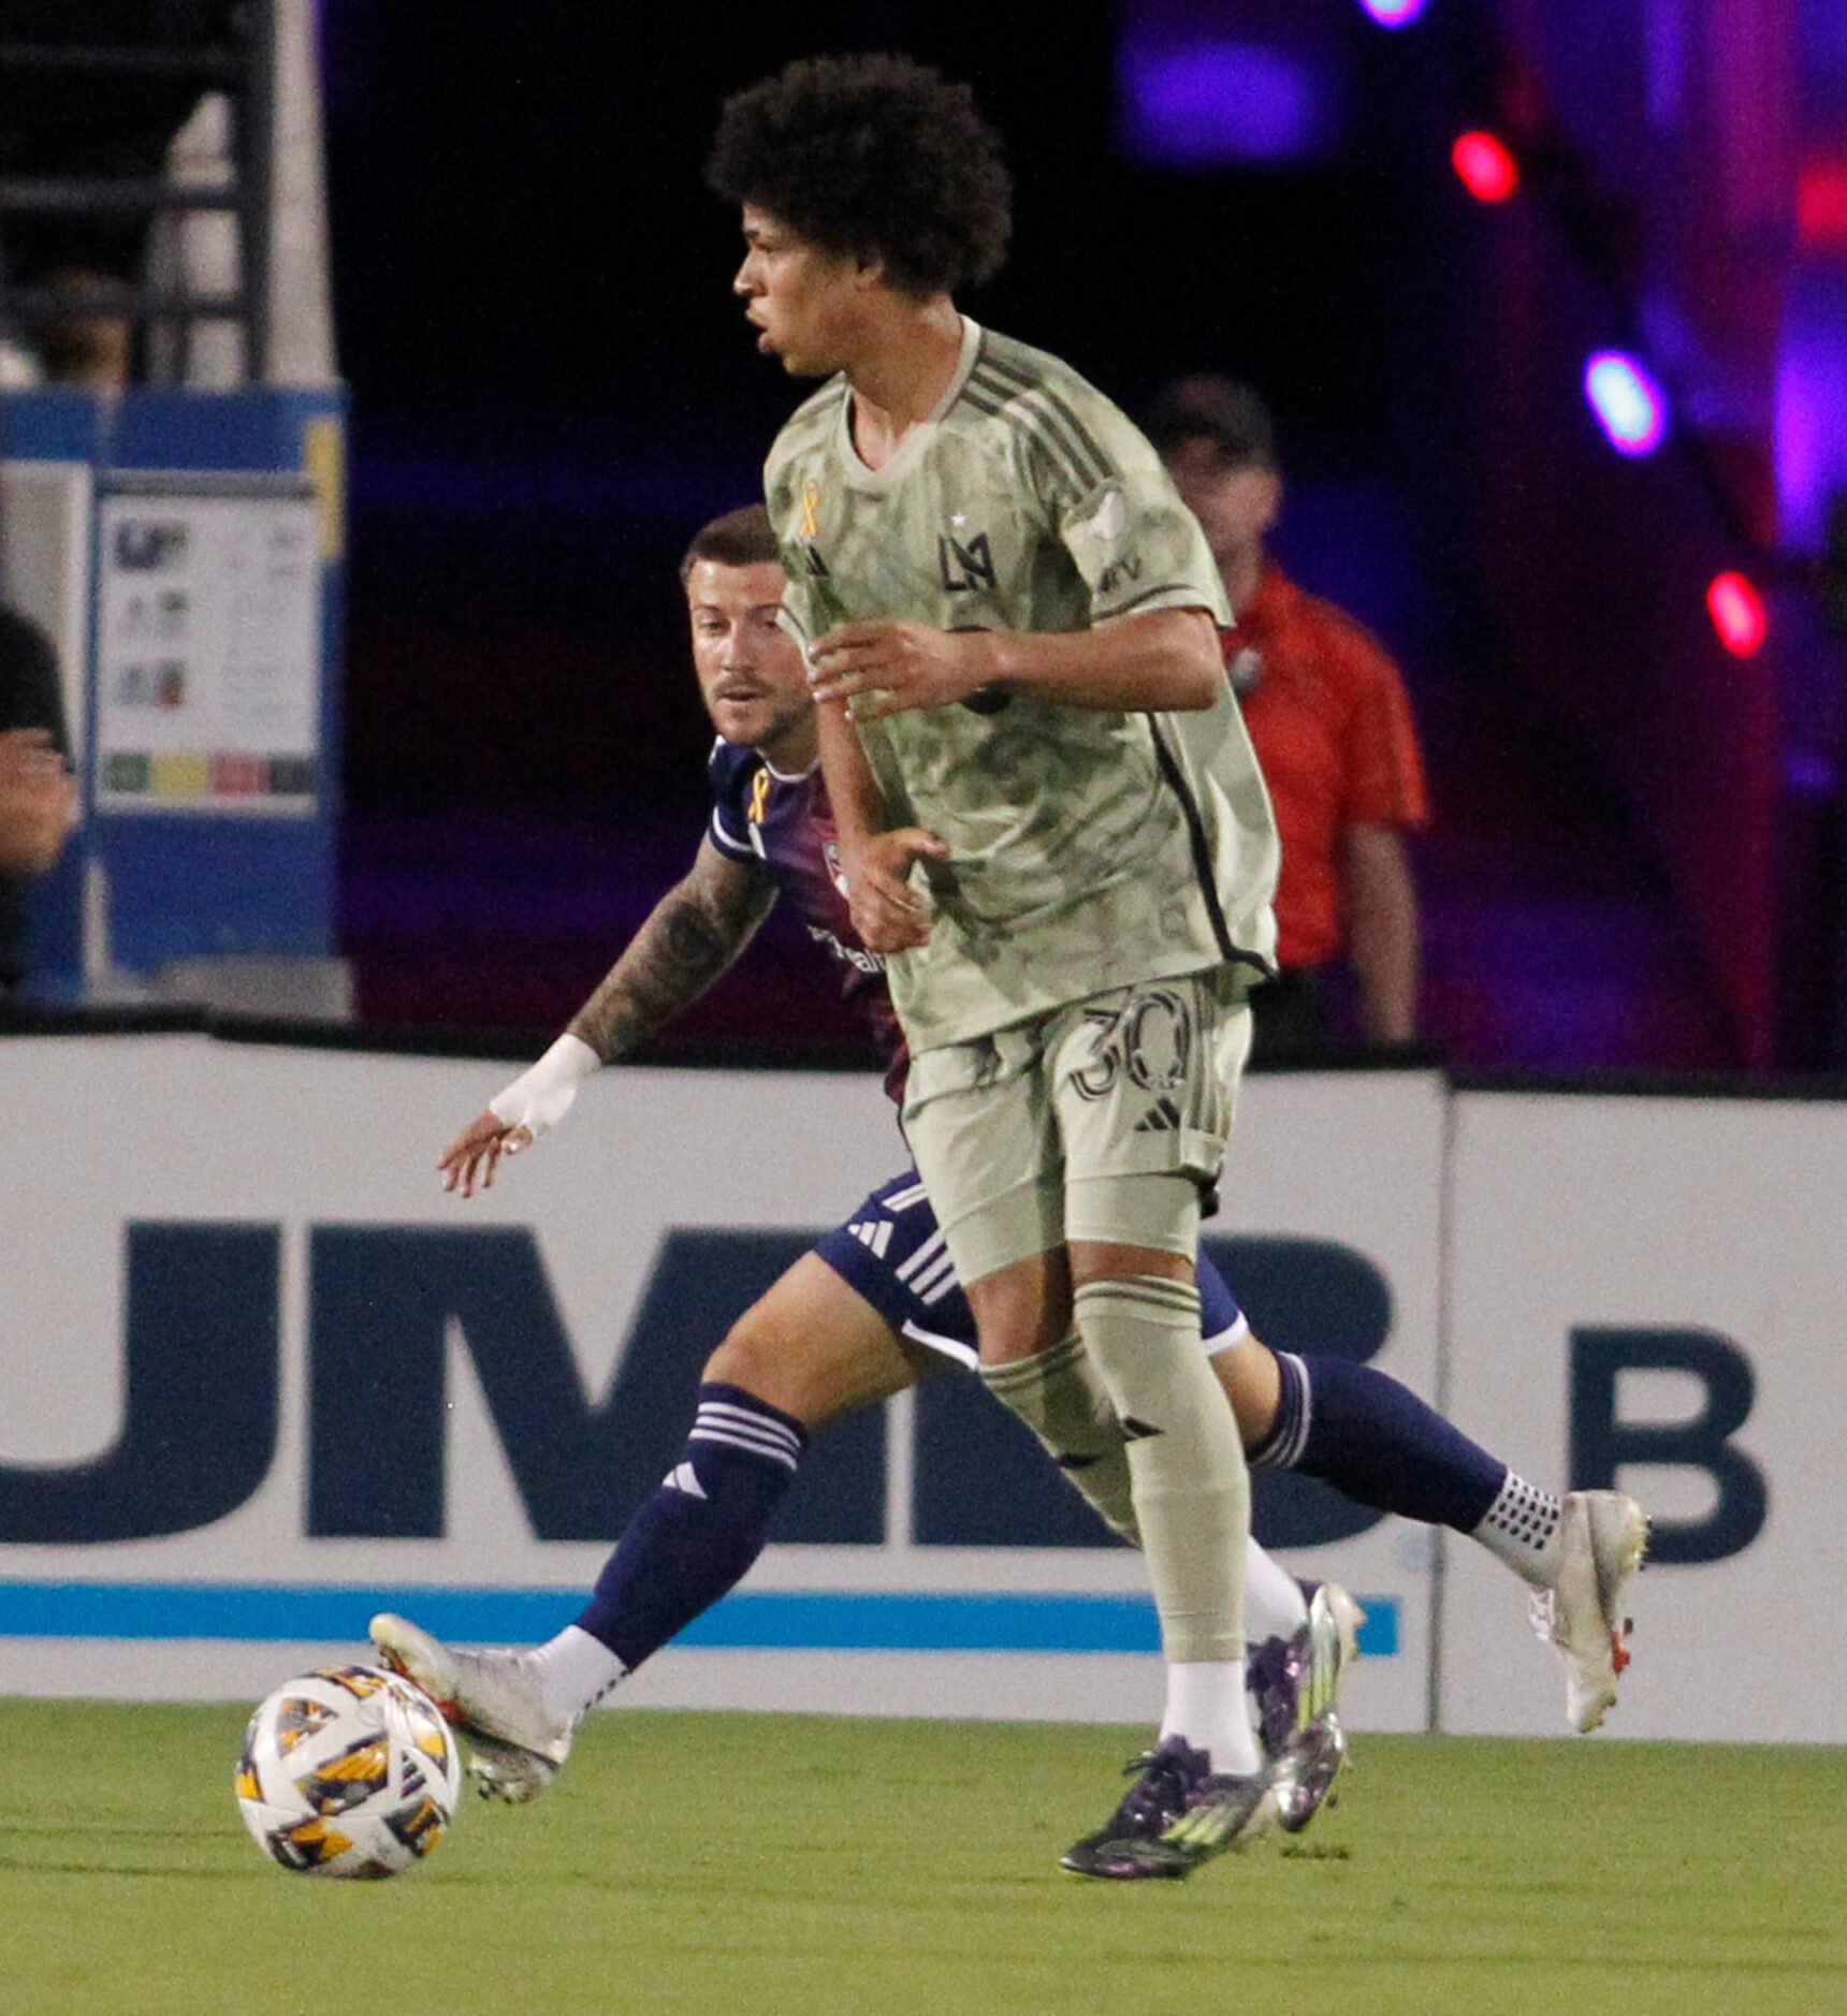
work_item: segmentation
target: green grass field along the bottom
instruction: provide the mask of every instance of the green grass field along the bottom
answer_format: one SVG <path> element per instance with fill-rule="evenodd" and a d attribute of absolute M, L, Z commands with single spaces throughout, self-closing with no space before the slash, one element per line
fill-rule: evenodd
<path fill-rule="evenodd" d="M 0 1702 L 0 2012 L 1847 2010 L 1847 1754 L 1363 1736 L 1337 1810 L 1081 1883 L 1125 1732 L 595 1716 L 393 1883 L 288 1875 L 244 1714 Z"/>

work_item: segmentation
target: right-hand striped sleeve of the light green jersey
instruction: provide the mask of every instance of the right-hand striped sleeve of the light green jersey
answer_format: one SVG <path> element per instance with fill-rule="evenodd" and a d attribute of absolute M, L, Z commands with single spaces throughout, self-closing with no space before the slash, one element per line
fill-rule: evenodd
<path fill-rule="evenodd" d="M 1040 399 L 1028 480 L 1091 591 L 1091 621 L 1206 609 L 1214 623 L 1230 627 L 1206 534 L 1147 437 L 1081 383 Z"/>

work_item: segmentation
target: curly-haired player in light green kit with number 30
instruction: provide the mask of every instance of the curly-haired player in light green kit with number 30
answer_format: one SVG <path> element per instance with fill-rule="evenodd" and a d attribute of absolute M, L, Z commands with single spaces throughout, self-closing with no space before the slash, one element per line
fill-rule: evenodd
<path fill-rule="evenodd" d="M 1129 1441 L 1167 1706 L 1065 1867 L 1180 1875 L 1272 1818 L 1242 1706 L 1250 1488 L 1194 1286 L 1274 946 L 1218 571 L 1101 393 L 958 312 L 1008 234 L 966 87 L 899 56 L 794 62 L 728 101 L 710 181 L 742 206 L 758 347 L 827 377 L 766 502 L 984 1375 L 1032 1421 L 1036 1361 L 1075 1335 Z"/>

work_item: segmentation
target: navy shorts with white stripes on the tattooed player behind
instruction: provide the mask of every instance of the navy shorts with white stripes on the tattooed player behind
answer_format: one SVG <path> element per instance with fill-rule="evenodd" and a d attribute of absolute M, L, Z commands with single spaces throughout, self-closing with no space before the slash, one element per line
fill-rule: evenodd
<path fill-rule="evenodd" d="M 974 1312 L 915 1169 L 881 1183 L 843 1226 L 835 1226 L 815 1252 L 913 1345 L 940 1351 L 958 1365 L 974 1365 Z M 1224 1274 L 1200 1258 L 1200 1331 L 1208 1351 L 1224 1351 L 1244 1337 L 1244 1310 Z"/>

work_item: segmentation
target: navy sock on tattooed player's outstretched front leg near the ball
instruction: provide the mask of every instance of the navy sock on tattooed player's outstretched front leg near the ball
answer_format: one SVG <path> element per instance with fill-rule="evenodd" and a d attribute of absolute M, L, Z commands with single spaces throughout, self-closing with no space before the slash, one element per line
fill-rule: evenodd
<path fill-rule="evenodd" d="M 633 1673 L 744 1579 L 807 1445 L 794 1415 L 744 1387 L 702 1385 L 680 1462 L 629 1520 L 579 1629 Z"/>

